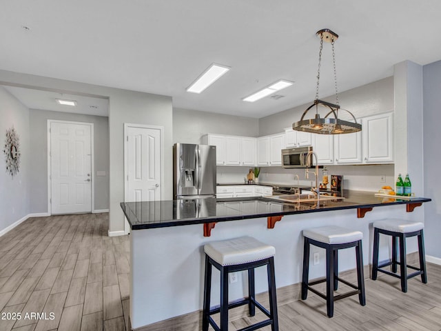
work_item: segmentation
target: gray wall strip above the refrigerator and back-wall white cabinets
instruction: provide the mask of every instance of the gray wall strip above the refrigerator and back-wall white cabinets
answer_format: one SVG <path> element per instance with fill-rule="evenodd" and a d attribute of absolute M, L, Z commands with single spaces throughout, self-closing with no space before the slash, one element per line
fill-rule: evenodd
<path fill-rule="evenodd" d="M 259 120 L 173 108 L 173 143 L 201 143 L 207 133 L 258 137 Z"/>

